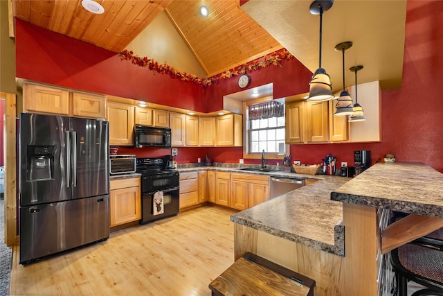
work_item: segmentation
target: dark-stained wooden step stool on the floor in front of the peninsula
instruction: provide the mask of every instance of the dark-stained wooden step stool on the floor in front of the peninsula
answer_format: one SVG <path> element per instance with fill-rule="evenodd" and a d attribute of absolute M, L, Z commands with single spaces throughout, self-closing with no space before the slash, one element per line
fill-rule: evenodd
<path fill-rule="evenodd" d="M 213 296 L 313 296 L 314 286 L 314 279 L 249 252 L 209 284 Z"/>

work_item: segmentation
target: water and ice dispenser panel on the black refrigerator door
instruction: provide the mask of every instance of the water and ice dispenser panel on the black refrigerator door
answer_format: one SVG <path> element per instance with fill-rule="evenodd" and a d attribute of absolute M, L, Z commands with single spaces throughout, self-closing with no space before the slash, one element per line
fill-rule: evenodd
<path fill-rule="evenodd" d="M 54 173 L 53 145 L 35 146 L 28 145 L 26 149 L 27 174 L 26 181 L 53 180 Z"/>

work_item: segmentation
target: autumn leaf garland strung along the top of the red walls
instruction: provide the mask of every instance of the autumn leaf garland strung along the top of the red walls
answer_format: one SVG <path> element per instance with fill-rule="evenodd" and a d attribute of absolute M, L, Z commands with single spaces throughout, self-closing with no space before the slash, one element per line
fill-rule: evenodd
<path fill-rule="evenodd" d="M 134 55 L 132 51 L 128 51 L 127 49 L 120 52 L 120 58 L 121 60 L 130 61 L 132 64 L 136 64 L 138 67 L 148 67 L 148 69 L 151 71 L 157 71 L 158 73 L 167 74 L 172 78 L 179 78 L 182 81 L 190 81 L 201 85 L 202 87 L 207 87 L 208 85 L 213 85 L 220 79 L 239 76 L 244 73 L 256 71 L 271 65 L 282 67 L 280 61 L 284 59 L 289 60 L 293 58 L 293 55 L 286 49 L 281 49 L 280 51 L 275 51 L 275 53 L 271 53 L 270 55 L 265 55 L 263 58 L 253 60 L 252 62 L 235 67 L 235 69 L 230 69 L 208 78 L 199 78 L 197 75 L 181 72 L 174 67 L 169 66 L 166 62 L 160 64 L 153 59 L 148 59 L 146 57 L 140 58 L 138 55 Z"/>

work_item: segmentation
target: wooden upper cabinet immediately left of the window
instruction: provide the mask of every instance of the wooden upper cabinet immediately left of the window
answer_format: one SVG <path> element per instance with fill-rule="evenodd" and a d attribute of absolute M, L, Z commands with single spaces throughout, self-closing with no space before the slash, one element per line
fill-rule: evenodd
<path fill-rule="evenodd" d="M 226 114 L 217 116 L 217 146 L 242 146 L 243 145 L 243 120 L 242 115 Z"/>

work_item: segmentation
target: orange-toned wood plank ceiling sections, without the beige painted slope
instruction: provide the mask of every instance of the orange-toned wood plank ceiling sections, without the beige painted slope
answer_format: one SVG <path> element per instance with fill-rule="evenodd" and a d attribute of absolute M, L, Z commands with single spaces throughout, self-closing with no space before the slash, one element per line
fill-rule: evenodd
<path fill-rule="evenodd" d="M 123 51 L 165 10 L 207 76 L 282 49 L 246 12 L 239 0 L 101 0 L 105 13 L 93 15 L 81 0 L 13 0 L 24 21 L 116 53 Z M 199 6 L 210 13 L 203 18 Z"/>

